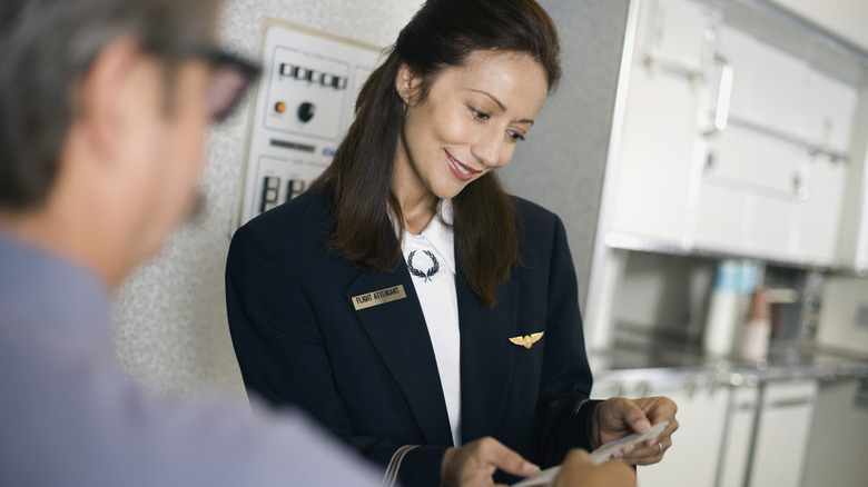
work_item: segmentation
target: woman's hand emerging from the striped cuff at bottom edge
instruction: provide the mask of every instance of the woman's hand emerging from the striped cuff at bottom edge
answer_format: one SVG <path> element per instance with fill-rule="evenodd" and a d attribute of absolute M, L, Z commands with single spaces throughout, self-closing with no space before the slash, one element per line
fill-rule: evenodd
<path fill-rule="evenodd" d="M 441 467 L 441 486 L 492 486 L 494 485 L 492 475 L 497 469 L 519 477 L 540 471 L 540 467 L 525 460 L 496 439 L 485 437 L 446 450 Z"/>

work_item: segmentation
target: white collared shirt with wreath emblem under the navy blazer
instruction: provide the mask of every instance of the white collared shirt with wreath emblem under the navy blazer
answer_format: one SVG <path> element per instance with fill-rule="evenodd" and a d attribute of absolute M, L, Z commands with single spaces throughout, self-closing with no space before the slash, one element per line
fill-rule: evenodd
<path fill-rule="evenodd" d="M 394 223 L 391 212 L 389 217 Z M 455 240 L 450 227 L 452 221 L 452 200 L 441 200 L 438 215 L 422 233 L 413 235 L 404 230 L 401 250 L 411 271 L 437 360 L 452 440 L 455 446 L 461 446 L 461 331 L 455 294 Z"/>

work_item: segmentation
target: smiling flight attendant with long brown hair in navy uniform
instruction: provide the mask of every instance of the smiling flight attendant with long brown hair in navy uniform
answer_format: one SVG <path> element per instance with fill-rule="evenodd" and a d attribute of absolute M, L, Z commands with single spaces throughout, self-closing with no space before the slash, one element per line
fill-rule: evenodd
<path fill-rule="evenodd" d="M 670 399 L 589 398 L 564 227 L 495 175 L 558 85 L 559 56 L 533 0 L 427 1 L 363 87 L 332 165 L 233 238 L 246 387 L 306 409 L 386 484 L 455 484 L 486 437 L 543 467 L 663 420 L 623 460 L 671 446 Z"/>

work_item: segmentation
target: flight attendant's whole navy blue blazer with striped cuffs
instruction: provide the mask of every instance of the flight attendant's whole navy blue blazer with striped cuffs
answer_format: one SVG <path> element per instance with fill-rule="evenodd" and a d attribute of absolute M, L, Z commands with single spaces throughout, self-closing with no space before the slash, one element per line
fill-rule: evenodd
<path fill-rule="evenodd" d="M 566 233 L 552 212 L 514 198 L 523 266 L 483 306 L 457 262 L 462 441 L 493 436 L 542 467 L 590 449 L 596 401 Z M 438 486 L 452 446 L 434 351 L 406 265 L 361 270 L 328 249 L 331 198 L 307 192 L 233 237 L 229 328 L 245 386 L 297 405 L 384 467 L 405 445 L 407 486 Z M 406 298 L 356 310 L 353 298 L 403 286 Z M 509 338 L 543 331 L 531 348 Z"/>

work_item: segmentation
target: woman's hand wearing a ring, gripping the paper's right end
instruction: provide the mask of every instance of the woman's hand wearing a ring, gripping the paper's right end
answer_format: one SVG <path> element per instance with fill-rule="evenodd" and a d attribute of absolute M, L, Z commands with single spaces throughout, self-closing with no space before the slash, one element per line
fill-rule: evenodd
<path fill-rule="evenodd" d="M 620 456 L 621 460 L 632 465 L 657 464 L 672 446 L 672 434 L 678 429 L 675 411 L 678 406 L 668 397 L 606 399 L 594 409 L 592 441 L 599 447 L 634 433 L 645 433 L 651 429 L 651 425 L 669 420 L 669 425 L 659 437 L 651 438 L 644 445 L 637 446 Z"/>

